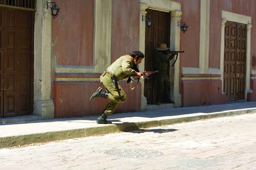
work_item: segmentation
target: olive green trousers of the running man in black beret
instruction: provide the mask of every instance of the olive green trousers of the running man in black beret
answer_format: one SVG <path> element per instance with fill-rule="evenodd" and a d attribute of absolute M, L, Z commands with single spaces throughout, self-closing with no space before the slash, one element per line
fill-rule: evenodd
<path fill-rule="evenodd" d="M 108 105 L 104 108 L 103 112 L 107 115 L 110 115 L 116 110 L 119 103 L 126 101 L 126 94 L 122 87 L 119 85 L 119 82 L 113 82 L 111 75 L 108 73 L 105 73 L 101 76 L 101 83 L 105 86 L 105 89 L 108 92 L 108 100 L 110 100 Z"/>

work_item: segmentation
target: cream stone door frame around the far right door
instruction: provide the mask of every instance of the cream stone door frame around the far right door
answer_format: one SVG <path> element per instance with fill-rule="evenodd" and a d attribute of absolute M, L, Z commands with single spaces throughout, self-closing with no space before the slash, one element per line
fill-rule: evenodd
<path fill-rule="evenodd" d="M 250 89 L 250 42 L 251 42 L 251 17 L 236 14 L 228 11 L 222 11 L 222 22 L 221 22 L 221 56 L 220 56 L 220 72 L 221 72 L 221 81 L 222 81 L 222 94 L 223 92 L 223 85 L 224 85 L 224 40 L 225 40 L 225 23 L 227 21 L 231 21 L 234 23 L 242 23 L 247 26 L 247 40 L 246 40 L 246 74 L 245 74 L 245 93 L 244 93 L 244 100 L 247 101 L 247 93 L 252 93 L 253 91 Z"/>

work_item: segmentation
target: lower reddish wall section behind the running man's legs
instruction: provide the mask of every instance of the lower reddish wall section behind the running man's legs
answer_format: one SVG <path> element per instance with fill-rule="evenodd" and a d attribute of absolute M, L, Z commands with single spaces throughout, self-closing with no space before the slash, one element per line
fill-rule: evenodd
<path fill-rule="evenodd" d="M 127 101 L 120 103 L 114 113 L 140 111 L 141 84 L 131 91 L 128 83 L 120 82 L 126 93 Z M 57 82 L 55 83 L 55 117 L 77 117 L 100 115 L 109 100 L 90 96 L 98 87 L 104 86 L 99 82 Z"/>

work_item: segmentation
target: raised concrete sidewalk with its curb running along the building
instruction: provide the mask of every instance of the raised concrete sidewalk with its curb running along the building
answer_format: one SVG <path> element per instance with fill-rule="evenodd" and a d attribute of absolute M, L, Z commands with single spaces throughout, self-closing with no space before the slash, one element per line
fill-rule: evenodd
<path fill-rule="evenodd" d="M 119 131 L 191 122 L 223 116 L 256 113 L 256 102 L 236 102 L 223 105 L 168 108 L 151 111 L 117 113 L 108 116 L 111 125 L 98 125 L 99 116 L 84 116 L 65 119 L 36 120 L 38 116 L 27 116 L 28 122 L 4 123 L 0 119 L 0 148 L 25 144 L 72 139 Z M 24 116 L 12 118 L 24 119 Z"/>

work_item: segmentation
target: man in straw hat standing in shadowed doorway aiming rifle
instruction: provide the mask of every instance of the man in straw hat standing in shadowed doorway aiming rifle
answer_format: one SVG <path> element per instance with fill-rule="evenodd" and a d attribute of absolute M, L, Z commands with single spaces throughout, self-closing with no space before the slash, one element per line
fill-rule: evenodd
<path fill-rule="evenodd" d="M 169 49 L 166 44 L 162 43 L 157 47 L 155 54 L 156 58 L 156 69 L 157 73 L 157 95 L 156 95 L 156 105 L 160 105 L 161 97 L 165 98 L 165 102 L 174 103 L 170 98 L 170 86 L 171 82 L 169 80 L 168 68 L 170 60 L 173 59 L 175 54 L 170 54 Z M 163 96 L 163 91 L 165 90 L 165 96 Z"/>

